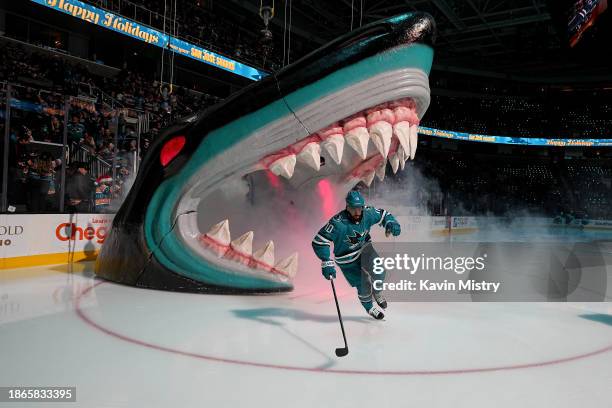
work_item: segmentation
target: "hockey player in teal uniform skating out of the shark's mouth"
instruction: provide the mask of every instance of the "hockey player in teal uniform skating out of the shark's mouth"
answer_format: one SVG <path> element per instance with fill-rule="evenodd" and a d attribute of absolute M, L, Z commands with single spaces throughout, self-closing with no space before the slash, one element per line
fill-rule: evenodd
<path fill-rule="evenodd" d="M 385 228 L 387 236 L 398 236 L 401 232 L 393 215 L 385 210 L 366 206 L 361 193 L 350 191 L 346 196 L 346 209 L 334 215 L 319 230 L 312 240 L 312 248 L 322 261 L 323 276 L 326 279 L 334 279 L 337 264 L 349 284 L 357 288 L 359 301 L 366 312 L 380 320 L 384 318 L 384 314 L 372 304 L 372 295 L 383 309 L 387 308 L 387 301 L 380 291 L 372 290 L 373 280 L 385 279 L 384 273 L 372 274 L 372 262 L 378 256 L 370 239 L 370 228 L 374 224 Z M 330 254 L 332 243 L 335 262 L 331 260 Z"/>

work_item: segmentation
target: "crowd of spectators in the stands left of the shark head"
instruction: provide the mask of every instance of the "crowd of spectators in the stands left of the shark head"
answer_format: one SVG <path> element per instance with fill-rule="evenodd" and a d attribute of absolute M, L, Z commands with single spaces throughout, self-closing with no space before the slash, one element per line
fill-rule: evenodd
<path fill-rule="evenodd" d="M 218 101 L 214 96 L 194 93 L 177 86 L 173 87 L 173 93 L 169 92 L 170 88 L 167 85 L 163 86 L 164 95 L 161 95 L 160 84 L 153 86 L 154 81 L 140 72 L 124 70 L 116 77 L 98 77 L 89 73 L 83 66 L 72 65 L 62 57 L 26 52 L 21 46 L 0 46 L 0 62 L 2 63 L 0 78 L 11 81 L 11 96 L 21 102 L 19 107 L 11 112 L 9 139 L 11 183 L 8 186 L 9 205 L 17 206 L 20 211 L 21 208 L 49 210 L 49 200 L 46 200 L 45 204 L 45 200 L 42 199 L 43 192 L 47 185 L 48 197 L 53 197 L 55 188 L 59 191 L 59 183 L 47 182 L 49 179 L 59 178 L 57 174 L 60 172 L 57 171 L 55 177 L 45 172 L 42 178 L 36 171 L 30 174 L 34 169 L 41 169 L 41 164 L 35 161 L 37 157 L 33 156 L 34 150 L 39 149 L 40 145 L 36 145 L 34 149 L 32 146 L 36 144 L 35 139 L 40 142 L 62 143 L 64 130 L 68 136 L 69 153 L 73 161 L 94 162 L 95 158 L 99 157 L 108 164 L 120 154 L 115 161 L 118 165 L 117 185 L 123 187 L 113 191 L 112 196 L 117 198 L 127 192 L 125 186 L 128 184 L 123 184 L 123 181 L 128 180 L 129 173 L 139 159 L 136 157 L 138 135 L 132 121 L 134 116 L 128 116 L 127 109 L 109 108 L 104 99 L 106 95 L 121 94 L 124 105 L 130 108 L 140 106 L 150 114 L 150 125 L 145 126 L 149 130 L 140 135 L 141 145 L 138 153 L 141 155 L 158 135 L 160 128 L 186 113 L 197 111 Z M 39 83 L 51 83 L 49 89 L 52 91 L 22 85 L 22 81 L 27 82 L 32 79 Z M 89 86 L 81 86 L 79 89 L 78 85 L 83 83 Z M 72 99 L 68 112 L 71 120 L 67 126 L 64 126 L 63 109 L 67 97 L 77 95 L 79 91 L 92 89 L 102 89 L 104 94 L 96 94 L 97 100 Z M 155 112 L 163 112 L 163 116 Z M 27 126 L 22 127 L 21 124 Z M 87 156 L 83 156 L 84 152 L 81 149 L 74 150 L 77 144 L 87 149 Z M 117 146 L 121 146 L 119 151 Z M 106 165 L 100 164 L 102 168 Z M 97 169 L 98 166 L 96 171 Z M 75 171 L 76 169 L 71 168 L 72 173 Z M 98 175 L 88 174 L 89 177 Z M 79 179 L 79 177 L 73 178 Z M 66 195 L 66 192 L 61 194 Z M 35 202 L 29 203 L 29 197 L 34 197 Z"/>

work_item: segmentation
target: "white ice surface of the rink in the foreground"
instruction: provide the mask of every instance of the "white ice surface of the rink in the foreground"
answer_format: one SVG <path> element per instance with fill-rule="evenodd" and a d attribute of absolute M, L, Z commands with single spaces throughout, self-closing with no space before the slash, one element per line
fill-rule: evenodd
<path fill-rule="evenodd" d="M 0 386 L 77 387 L 54 407 L 612 406 L 611 303 L 392 303 L 380 322 L 339 279 L 337 358 L 318 271 L 293 293 L 204 296 L 91 270 L 0 271 Z"/>

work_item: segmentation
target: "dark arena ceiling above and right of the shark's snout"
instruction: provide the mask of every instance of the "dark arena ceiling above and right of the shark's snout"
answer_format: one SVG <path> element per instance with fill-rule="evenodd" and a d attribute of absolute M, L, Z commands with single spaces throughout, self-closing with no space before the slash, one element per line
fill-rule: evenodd
<path fill-rule="evenodd" d="M 260 0 L 223 3 L 251 13 L 260 7 Z M 282 38 L 285 2 L 275 3 L 270 26 L 274 35 Z M 302 41 L 304 51 L 349 31 L 351 22 L 357 27 L 406 10 L 419 10 L 433 15 L 438 24 L 436 70 L 538 82 L 609 81 L 612 77 L 607 58 L 591 55 L 609 52 L 609 41 L 599 41 L 607 49 L 601 49 L 602 44 L 586 50 L 566 46 L 559 32 L 565 29 L 564 18 L 550 9 L 559 0 L 287 0 L 289 4 L 293 41 Z M 608 10 L 604 15 L 610 13 Z M 601 23 L 591 31 L 602 31 L 598 27 L 604 25 Z M 609 33 L 609 27 L 604 29 Z"/>

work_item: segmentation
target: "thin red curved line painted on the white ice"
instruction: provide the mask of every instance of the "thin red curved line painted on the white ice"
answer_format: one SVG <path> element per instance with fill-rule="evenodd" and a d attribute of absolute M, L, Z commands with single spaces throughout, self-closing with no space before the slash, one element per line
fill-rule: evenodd
<path fill-rule="evenodd" d="M 449 370 L 406 370 L 406 371 L 371 371 L 371 370 L 343 370 L 343 369 L 322 369 L 322 368 L 309 368 L 309 367 L 299 367 L 299 366 L 289 366 L 289 365 L 282 365 L 282 364 L 268 364 L 268 363 L 257 363 L 257 362 L 252 362 L 252 361 L 244 361 L 244 360 L 235 360 L 235 359 L 230 359 L 230 358 L 223 358 L 223 357 L 214 357 L 214 356 L 209 356 L 209 355 L 205 355 L 205 354 L 199 354 L 199 353 L 192 353 L 189 351 L 183 351 L 183 350 L 177 350 L 177 349 L 173 349 L 173 348 L 169 348 L 169 347 L 164 347 L 164 346 L 159 346 L 153 343 L 149 343 L 143 340 L 139 340 L 139 339 L 134 339 L 131 337 L 128 337 L 126 335 L 123 335 L 121 333 L 118 333 L 116 331 L 113 331 L 111 329 L 108 329 L 106 327 L 101 326 L 100 324 L 94 322 L 89 316 L 87 316 L 83 310 L 81 309 L 81 298 L 83 296 L 85 296 L 88 292 L 90 292 L 92 289 L 100 286 L 101 284 L 106 283 L 106 282 L 98 282 L 95 285 L 92 285 L 88 288 L 86 288 L 85 290 L 81 291 L 75 301 L 75 311 L 76 314 L 79 316 L 79 318 L 81 320 L 83 320 L 83 322 L 85 322 L 86 324 L 88 324 L 89 326 L 93 327 L 96 330 L 101 331 L 104 334 L 107 334 L 111 337 L 114 337 L 116 339 L 119 340 L 123 340 L 126 341 L 128 343 L 132 343 L 141 347 L 146 347 L 146 348 L 150 348 L 153 350 L 159 350 L 159 351 L 164 351 L 167 353 L 173 353 L 173 354 L 178 354 L 178 355 L 182 355 L 185 357 L 192 357 L 192 358 L 197 358 L 200 360 L 207 360 L 207 361 L 213 361 L 213 362 L 217 362 L 217 363 L 225 363 L 225 364 L 235 364 L 235 365 L 242 365 L 242 366 L 250 366 L 250 367 L 261 367 L 261 368 L 271 368 L 271 369 L 277 369 L 277 370 L 289 370 L 289 371 L 305 371 L 305 372 L 317 372 L 317 373 L 330 373 L 330 374 L 357 374 L 357 375 L 452 375 L 452 374 L 471 374 L 471 373 L 486 373 L 486 372 L 494 372 L 494 371 L 509 371 L 509 370 L 519 370 L 519 369 L 526 369 L 526 368 L 537 368 L 537 367 L 544 367 L 544 366 L 551 366 L 551 365 L 557 365 L 557 364 L 562 364 L 562 363 L 568 363 L 571 361 L 576 361 L 576 360 L 581 360 L 584 358 L 588 358 L 588 357 L 593 357 L 596 356 L 598 354 L 603 354 L 603 353 L 607 353 L 609 351 L 612 351 L 612 344 L 601 348 L 601 349 L 597 349 L 594 351 L 590 351 L 587 353 L 583 353 L 583 354 L 578 354 L 575 356 L 570 356 L 570 357 L 564 357 L 564 358 L 558 358 L 558 359 L 554 359 L 554 360 L 546 360 L 546 361 L 539 361 L 539 362 L 534 362 L 534 363 L 525 363 L 525 364 L 517 364 L 517 365 L 506 365 L 506 366 L 497 366 L 497 367 L 481 367 L 481 368 L 456 368 L 456 369 L 449 369 Z M 333 348 L 333 344 L 330 344 L 330 350 Z"/>

